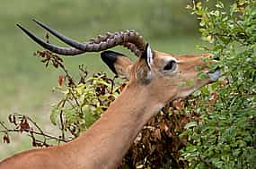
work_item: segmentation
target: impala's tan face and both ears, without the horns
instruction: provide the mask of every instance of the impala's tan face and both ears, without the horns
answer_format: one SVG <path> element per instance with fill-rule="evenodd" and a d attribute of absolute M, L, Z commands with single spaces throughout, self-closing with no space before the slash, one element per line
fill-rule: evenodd
<path fill-rule="evenodd" d="M 142 87 L 146 89 L 145 92 L 163 103 L 178 97 L 187 97 L 200 87 L 216 81 L 219 70 L 210 72 L 204 61 L 204 58 L 210 56 L 171 55 L 153 51 L 146 45 L 143 55 L 133 63 L 125 55 L 112 51 L 102 52 L 102 60 L 112 72 L 127 78 L 128 86 Z M 199 79 L 199 72 L 205 72 L 207 77 Z"/>

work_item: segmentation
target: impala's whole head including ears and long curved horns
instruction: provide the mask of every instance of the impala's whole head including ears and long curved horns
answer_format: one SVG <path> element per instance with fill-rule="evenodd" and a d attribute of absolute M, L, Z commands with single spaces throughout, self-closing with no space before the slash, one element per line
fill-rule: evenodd
<path fill-rule="evenodd" d="M 88 43 L 80 43 L 52 30 L 40 21 L 35 22 L 71 47 L 51 45 L 31 34 L 29 30 L 22 28 L 21 25 L 17 26 L 40 46 L 59 55 L 104 51 L 102 60 L 107 63 L 112 72 L 129 80 L 128 87 L 143 89 L 148 96 L 154 97 L 161 103 L 177 97 L 187 97 L 200 87 L 217 80 L 220 74 L 218 70 L 210 72 L 207 63 L 203 61 L 203 58 L 209 57 L 210 54 L 171 55 L 154 51 L 134 30 L 107 33 L 105 36 L 91 39 Z M 137 62 L 133 63 L 125 55 L 105 51 L 118 45 L 128 47 L 137 55 L 139 57 Z M 199 71 L 199 67 L 203 69 Z M 206 72 L 207 77 L 199 80 L 199 72 Z M 186 85 L 188 82 L 190 85 Z"/>

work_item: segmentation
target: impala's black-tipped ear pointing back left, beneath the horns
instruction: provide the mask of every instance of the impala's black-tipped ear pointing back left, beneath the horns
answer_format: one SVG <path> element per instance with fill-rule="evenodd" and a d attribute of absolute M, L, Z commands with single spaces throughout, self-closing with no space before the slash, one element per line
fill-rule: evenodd
<path fill-rule="evenodd" d="M 119 78 L 129 78 L 129 72 L 133 62 L 123 54 L 114 51 L 104 51 L 101 53 L 102 61 L 108 65 L 110 70 Z"/>

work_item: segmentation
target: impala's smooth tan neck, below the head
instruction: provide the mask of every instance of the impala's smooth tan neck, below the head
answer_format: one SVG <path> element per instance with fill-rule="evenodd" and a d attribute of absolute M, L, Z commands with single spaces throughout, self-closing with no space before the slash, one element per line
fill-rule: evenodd
<path fill-rule="evenodd" d="M 115 168 L 137 133 L 162 107 L 149 102 L 145 88 L 128 86 L 93 126 L 66 144 L 72 163 L 86 169 Z M 71 155 L 72 154 L 72 155 Z"/>

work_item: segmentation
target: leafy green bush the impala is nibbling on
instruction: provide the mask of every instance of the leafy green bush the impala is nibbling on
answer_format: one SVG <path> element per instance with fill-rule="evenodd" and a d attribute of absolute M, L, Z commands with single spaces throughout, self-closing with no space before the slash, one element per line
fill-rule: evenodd
<path fill-rule="evenodd" d="M 189 168 L 254 168 L 256 166 L 256 2 L 235 1 L 230 6 L 207 2 L 189 7 L 199 17 L 200 32 L 211 47 L 203 46 L 220 60 L 224 79 L 213 85 L 214 104 L 199 95 L 198 125 L 190 127 L 182 156 Z"/>

